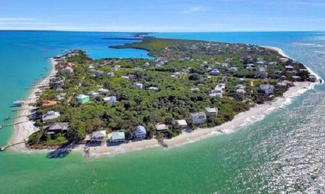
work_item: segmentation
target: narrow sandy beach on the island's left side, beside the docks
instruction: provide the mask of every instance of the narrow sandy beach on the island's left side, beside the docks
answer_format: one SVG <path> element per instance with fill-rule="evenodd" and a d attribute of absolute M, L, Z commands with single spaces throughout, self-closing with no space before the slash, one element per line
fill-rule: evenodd
<path fill-rule="evenodd" d="M 55 64 L 56 61 L 51 58 L 51 70 L 48 76 L 46 76 L 41 82 L 38 83 L 38 86 L 46 86 L 50 82 L 50 78 L 56 74 L 55 70 Z M 30 151 L 26 148 L 25 144 L 22 143 L 26 140 L 28 140 L 28 136 L 31 135 L 34 132 L 39 131 L 39 128 L 34 126 L 34 122 L 30 121 L 27 116 L 24 115 L 30 115 L 32 113 L 32 110 L 35 109 L 35 107 L 29 106 L 28 104 L 35 103 L 37 101 L 37 95 L 36 93 L 40 92 L 41 89 L 39 87 L 35 87 L 32 89 L 27 97 L 27 101 L 25 105 L 21 106 L 21 109 L 25 109 L 21 111 L 18 116 L 19 118 L 15 119 L 15 123 L 20 123 L 14 126 L 13 134 L 11 136 L 11 139 L 9 141 L 8 145 L 14 145 L 15 146 L 10 147 L 11 150 L 14 151 Z"/>

